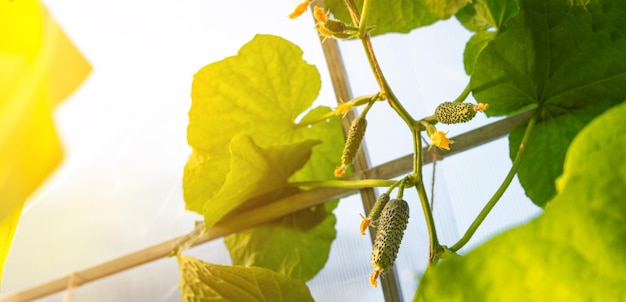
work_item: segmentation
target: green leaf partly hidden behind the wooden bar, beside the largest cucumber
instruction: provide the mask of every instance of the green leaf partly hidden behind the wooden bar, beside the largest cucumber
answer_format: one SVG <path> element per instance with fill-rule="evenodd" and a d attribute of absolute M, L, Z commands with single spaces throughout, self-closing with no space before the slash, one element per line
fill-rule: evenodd
<path fill-rule="evenodd" d="M 331 110 L 318 107 L 311 110 L 301 121 L 314 121 L 326 116 Z M 326 141 L 314 147 L 316 152 L 307 165 L 290 180 L 326 180 L 334 176 L 329 171 L 335 168 L 341 154 L 343 136 L 328 135 L 341 130 L 339 119 L 324 121 L 325 126 L 306 127 L 305 136 L 324 137 Z M 275 199 L 289 195 L 289 192 Z M 328 202 L 311 209 L 302 210 L 271 223 L 225 237 L 235 265 L 260 266 L 273 269 L 290 277 L 309 280 L 328 260 L 330 246 L 335 239 L 335 216 L 332 210 L 337 202 Z"/>

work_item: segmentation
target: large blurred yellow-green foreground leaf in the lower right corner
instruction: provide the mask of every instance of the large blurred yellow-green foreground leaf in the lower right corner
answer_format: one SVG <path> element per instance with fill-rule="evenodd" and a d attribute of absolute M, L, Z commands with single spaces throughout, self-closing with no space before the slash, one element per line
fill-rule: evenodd
<path fill-rule="evenodd" d="M 545 212 L 423 278 L 417 301 L 626 300 L 626 103 L 568 151 Z"/>

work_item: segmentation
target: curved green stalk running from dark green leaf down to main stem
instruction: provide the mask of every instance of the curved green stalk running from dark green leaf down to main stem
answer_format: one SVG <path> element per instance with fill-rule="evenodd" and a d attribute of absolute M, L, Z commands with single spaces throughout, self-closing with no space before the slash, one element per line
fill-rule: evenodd
<path fill-rule="evenodd" d="M 528 143 L 530 134 L 532 133 L 532 130 L 535 127 L 536 121 L 537 121 L 537 114 L 534 114 L 528 121 L 528 125 L 526 126 L 526 131 L 524 132 L 524 137 L 522 138 L 522 142 L 520 143 L 519 150 L 517 151 L 517 155 L 515 155 L 515 159 L 513 160 L 513 166 L 509 170 L 509 173 L 507 174 L 506 178 L 504 179 L 504 181 L 502 182 L 502 184 L 500 185 L 496 193 L 494 193 L 491 199 L 487 202 L 487 204 L 482 209 L 482 211 L 480 211 L 476 219 L 474 219 L 474 221 L 469 226 L 469 228 L 467 229 L 463 237 L 461 237 L 461 239 L 459 239 L 457 243 L 455 243 L 453 246 L 450 247 L 450 251 L 456 252 L 460 250 L 461 248 L 463 248 L 463 246 L 465 246 L 465 244 L 472 238 L 472 236 L 474 235 L 478 227 L 482 224 L 482 222 L 485 220 L 485 218 L 487 217 L 491 209 L 493 209 L 496 203 L 498 203 L 498 201 L 500 200 L 500 197 L 502 197 L 506 189 L 511 184 L 511 181 L 513 180 L 513 177 L 515 176 L 515 173 L 517 173 L 517 169 L 519 168 L 519 165 L 522 161 L 524 151 L 526 150 L 526 147 L 527 147 L 526 144 Z"/>

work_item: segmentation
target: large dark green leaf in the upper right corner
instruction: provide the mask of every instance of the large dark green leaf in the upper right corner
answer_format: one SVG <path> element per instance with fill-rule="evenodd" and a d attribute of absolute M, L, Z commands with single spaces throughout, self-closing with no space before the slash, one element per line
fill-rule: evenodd
<path fill-rule="evenodd" d="M 540 206 L 554 196 L 573 135 L 626 96 L 626 2 L 574 2 L 519 1 L 518 15 L 482 51 L 471 78 L 474 97 L 489 103 L 490 115 L 537 107 L 540 119 L 518 176 Z M 511 134 L 512 156 L 522 132 Z"/>

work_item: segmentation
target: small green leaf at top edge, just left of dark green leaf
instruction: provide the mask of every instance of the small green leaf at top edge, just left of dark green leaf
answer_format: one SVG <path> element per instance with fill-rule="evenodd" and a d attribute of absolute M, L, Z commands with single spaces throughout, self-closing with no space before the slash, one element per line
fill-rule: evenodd
<path fill-rule="evenodd" d="M 499 30 L 517 11 L 515 0 L 474 0 L 459 10 L 456 18 L 471 31 Z"/>

